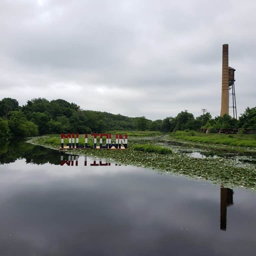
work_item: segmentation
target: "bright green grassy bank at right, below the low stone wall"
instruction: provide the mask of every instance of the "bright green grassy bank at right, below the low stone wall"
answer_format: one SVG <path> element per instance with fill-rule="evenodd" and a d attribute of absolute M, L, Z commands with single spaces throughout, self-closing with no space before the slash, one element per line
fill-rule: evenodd
<path fill-rule="evenodd" d="M 238 147 L 256 147 L 256 135 L 247 134 L 219 134 L 219 133 L 200 133 L 195 131 L 177 131 L 170 133 L 171 137 L 175 139 L 182 139 L 192 142 L 200 143 L 212 143 L 212 144 L 222 144 L 229 146 Z"/>

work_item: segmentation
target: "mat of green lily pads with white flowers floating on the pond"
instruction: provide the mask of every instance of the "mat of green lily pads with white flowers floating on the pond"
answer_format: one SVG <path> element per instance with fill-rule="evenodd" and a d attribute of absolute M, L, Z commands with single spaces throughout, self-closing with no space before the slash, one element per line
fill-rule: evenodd
<path fill-rule="evenodd" d="M 56 135 L 55 135 L 56 136 Z M 30 138 L 28 142 L 58 149 L 60 146 L 47 144 L 51 136 L 42 136 Z M 57 137 L 57 136 L 56 136 Z M 205 157 L 203 159 L 190 157 L 186 153 L 175 152 L 172 154 L 160 154 L 159 152 L 136 151 L 135 148 L 157 147 L 155 144 L 163 141 L 163 137 L 129 137 L 128 148 L 126 150 L 67 150 L 69 154 L 78 154 L 90 156 L 120 164 L 135 165 L 139 167 L 150 168 L 160 174 L 171 174 L 185 176 L 194 180 L 208 180 L 213 184 L 223 185 L 225 187 L 242 187 L 250 190 L 256 189 L 256 168 L 255 164 L 245 163 L 241 166 L 232 159 L 225 157 Z M 168 141 L 166 139 L 166 141 Z M 51 141 L 50 141 L 51 142 Z M 147 145 L 145 145 L 147 144 Z M 149 146 L 148 146 L 149 145 Z M 162 148 L 162 147 L 160 147 Z M 164 149 L 172 149 L 172 145 Z M 216 148 L 217 150 L 217 148 Z"/>

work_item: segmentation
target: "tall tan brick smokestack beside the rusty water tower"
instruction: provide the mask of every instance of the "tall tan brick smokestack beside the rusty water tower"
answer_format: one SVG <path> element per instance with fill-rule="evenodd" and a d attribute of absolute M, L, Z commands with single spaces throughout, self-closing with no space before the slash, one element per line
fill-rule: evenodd
<path fill-rule="evenodd" d="M 229 86 L 228 86 L 228 44 L 222 45 L 222 89 L 220 116 L 229 114 Z"/>

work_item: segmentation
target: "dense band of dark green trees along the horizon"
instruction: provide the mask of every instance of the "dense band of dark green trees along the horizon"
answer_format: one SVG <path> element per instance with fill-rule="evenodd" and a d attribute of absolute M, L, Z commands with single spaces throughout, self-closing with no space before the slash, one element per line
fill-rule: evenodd
<path fill-rule="evenodd" d="M 256 129 L 256 107 L 247 108 L 238 120 L 229 115 L 212 118 L 210 113 L 194 117 L 188 110 L 176 117 L 149 120 L 121 114 L 83 110 L 75 103 L 62 99 L 48 101 L 44 98 L 28 100 L 19 106 L 16 99 L 0 101 L 0 138 L 78 132 L 105 132 L 110 130 L 151 130 L 172 132 L 204 128 Z"/>

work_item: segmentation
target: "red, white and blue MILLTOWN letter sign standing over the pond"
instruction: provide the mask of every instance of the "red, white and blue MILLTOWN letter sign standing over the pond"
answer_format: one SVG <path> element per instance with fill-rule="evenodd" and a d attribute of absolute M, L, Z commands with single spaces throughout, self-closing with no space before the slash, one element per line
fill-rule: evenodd
<path fill-rule="evenodd" d="M 96 149 L 126 149 L 127 148 L 127 134 L 125 134 L 125 138 L 123 138 L 122 134 L 116 134 L 116 143 L 111 143 L 111 134 L 101 134 L 101 133 L 92 133 L 92 137 L 94 137 L 94 148 Z M 100 146 L 97 146 L 97 137 L 100 137 Z M 72 138 L 71 138 L 72 137 Z M 102 139 L 106 137 L 106 145 L 103 146 Z M 64 146 L 64 139 L 69 139 L 69 145 Z M 123 146 L 121 146 L 123 144 Z M 88 135 L 85 134 L 85 145 L 79 145 L 79 134 L 76 133 L 76 144 L 75 144 L 75 134 L 68 133 L 65 135 L 61 134 L 61 147 L 60 149 L 91 149 L 91 146 L 88 146 Z"/>

